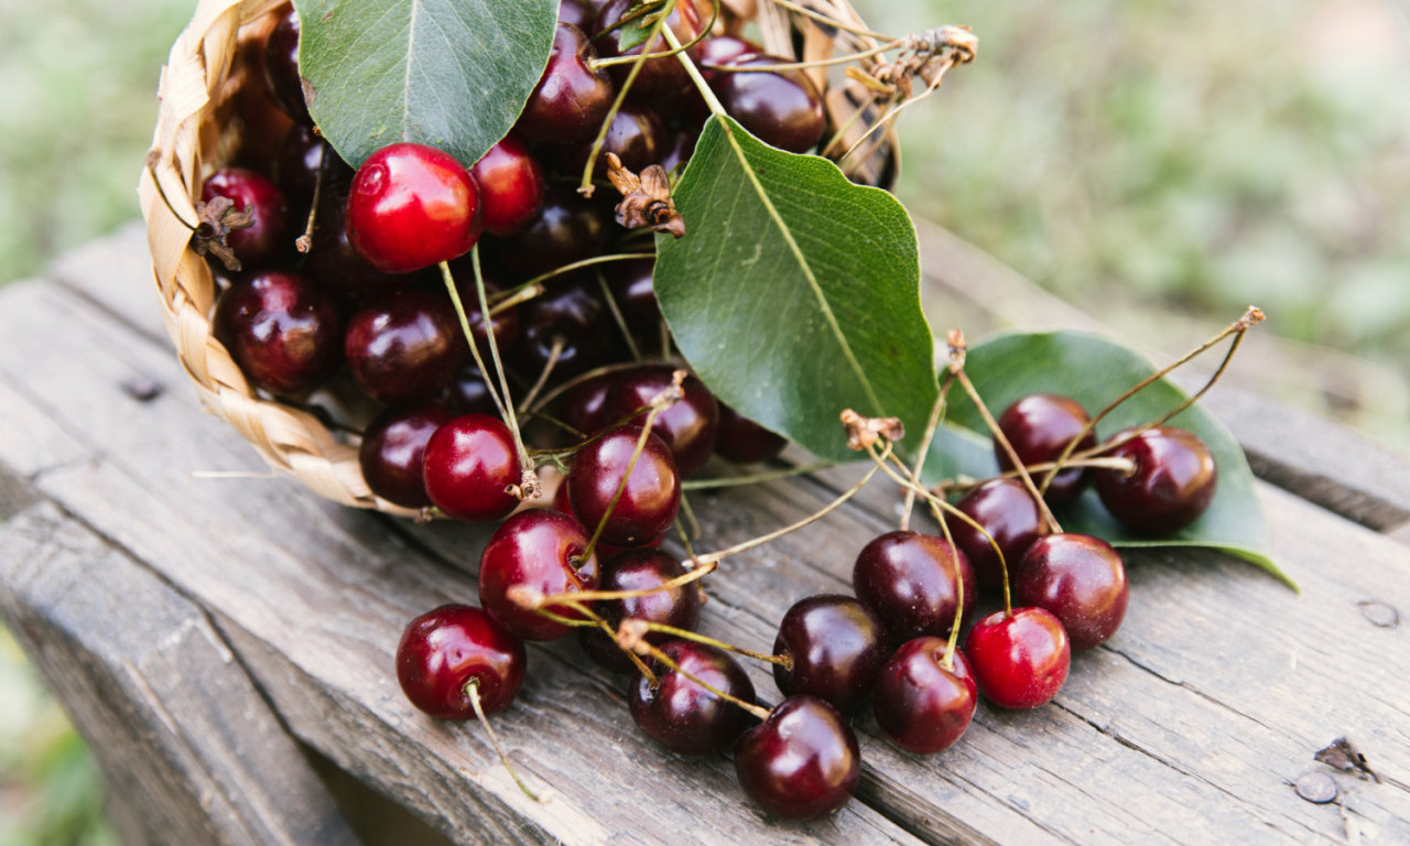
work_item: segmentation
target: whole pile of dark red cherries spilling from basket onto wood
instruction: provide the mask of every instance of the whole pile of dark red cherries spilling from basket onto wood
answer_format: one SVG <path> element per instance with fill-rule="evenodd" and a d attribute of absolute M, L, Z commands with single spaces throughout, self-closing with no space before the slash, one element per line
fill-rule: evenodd
<path fill-rule="evenodd" d="M 371 400 L 360 457 L 379 498 L 427 515 L 503 520 L 481 556 L 482 608 L 437 608 L 402 637 L 396 674 L 417 708 L 440 719 L 502 711 L 526 675 L 525 640 L 577 632 L 594 661 L 630 674 L 629 711 L 650 737 L 682 754 L 733 752 L 740 784 L 761 808 L 816 818 L 856 787 L 850 718 L 869 699 L 881 730 L 916 753 L 955 743 L 979 694 L 1003 708 L 1050 701 L 1070 651 L 1121 625 L 1125 570 L 1104 541 L 1062 533 L 1034 481 L 1008 474 L 957 501 L 967 520 L 948 522 L 953 543 L 912 530 L 867 543 L 853 571 L 856 596 L 797 602 L 771 653 L 694 633 L 699 581 L 712 567 L 658 548 L 677 525 L 681 479 L 712 454 L 753 464 L 776 458 L 785 441 L 719 405 L 671 358 L 650 238 L 615 227 L 611 202 L 574 190 L 630 69 L 591 62 L 643 49 L 619 49 L 630 7 L 563 0 L 543 79 L 513 133 L 472 166 L 393 144 L 355 172 L 313 127 L 296 65 L 299 21 L 283 13 L 258 59 L 288 117 L 279 152 L 251 161 L 250 145 L 244 166 L 204 183 L 204 203 L 226 197 L 254 219 L 228 234 L 219 220 L 196 233 L 224 237 L 243 266 L 213 265 L 223 286 L 213 327 L 268 396 L 302 405 L 331 384 Z M 702 8 L 678 0 L 667 25 L 682 44 L 698 41 L 692 55 L 725 109 L 764 141 L 814 149 L 826 120 L 811 82 L 797 70 L 721 70 L 784 59 L 740 38 L 698 39 Z M 649 59 L 601 152 L 632 171 L 677 171 L 706 114 L 677 59 Z M 299 252 L 303 221 L 312 237 Z M 602 261 L 584 264 L 595 257 Z M 495 413 L 508 391 L 471 361 L 471 343 L 486 362 L 503 351 L 508 381 L 543 398 L 525 417 L 536 450 Z M 643 350 L 658 358 L 643 361 Z M 1117 519 L 1149 533 L 1176 532 L 1208 505 L 1215 470 L 1197 437 L 1155 427 L 1096 450 L 1087 423 L 1066 398 L 1018 400 L 998 423 L 1000 470 L 1014 470 L 1004 441 L 1035 465 L 1076 440 L 1079 455 L 1107 465 L 1062 468 L 1048 479 L 1046 503 L 1070 501 L 1094 479 Z M 523 502 L 534 464 L 567 468 L 543 503 Z M 1003 608 L 974 622 L 960 649 L 959 627 L 981 591 Z M 773 666 L 778 704 L 759 704 L 735 654 Z"/>

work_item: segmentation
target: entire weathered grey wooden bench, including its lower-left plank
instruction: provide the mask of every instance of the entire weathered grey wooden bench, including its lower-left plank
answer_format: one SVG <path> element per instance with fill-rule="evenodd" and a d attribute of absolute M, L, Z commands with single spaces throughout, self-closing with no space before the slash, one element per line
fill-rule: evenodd
<path fill-rule="evenodd" d="M 971 337 L 1090 324 L 922 233 L 928 306 Z M 1125 626 L 1076 656 L 1052 705 L 981 705 L 932 757 L 860 718 L 857 797 L 821 822 L 764 819 L 729 760 L 637 732 L 622 681 L 572 643 L 532 646 L 530 680 L 495 719 L 551 788 L 537 805 L 479 726 L 422 716 L 392 674 L 412 616 L 475 599 L 485 532 L 268 477 L 186 389 L 151 286 L 133 226 L 0 289 L 0 612 L 93 744 L 128 842 L 1410 843 L 1410 626 L 1393 616 L 1410 612 L 1410 465 L 1352 433 L 1217 389 L 1208 406 L 1272 482 L 1259 495 L 1303 594 L 1210 551 L 1131 551 Z M 708 547 L 854 477 L 695 496 Z M 794 601 L 849 589 L 856 550 L 894 513 L 873 485 L 729 560 L 704 629 L 767 649 Z M 1313 760 L 1340 736 L 1379 783 Z M 1306 774 L 1338 799 L 1300 798 Z"/>

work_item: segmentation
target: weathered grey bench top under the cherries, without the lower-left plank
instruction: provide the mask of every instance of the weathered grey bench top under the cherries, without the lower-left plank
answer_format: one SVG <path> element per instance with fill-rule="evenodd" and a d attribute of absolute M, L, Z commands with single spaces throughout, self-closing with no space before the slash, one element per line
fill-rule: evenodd
<path fill-rule="evenodd" d="M 300 742 L 457 840 L 1410 840 L 1410 649 L 1404 627 L 1378 627 L 1361 605 L 1410 609 L 1406 550 L 1270 485 L 1259 492 L 1301 596 L 1222 556 L 1132 554 L 1125 626 L 1076 658 L 1055 705 L 981 706 L 959 746 L 928 759 L 898 753 L 863 718 L 859 799 L 811 826 L 761 821 L 728 760 L 689 761 L 643 740 L 622 684 L 585 668 L 574 644 L 534 647 L 525 694 L 496 718 L 516 763 L 556 794 L 533 805 L 478 729 L 422 718 L 391 674 L 406 619 L 474 599 L 484 534 L 338 509 L 285 479 L 193 479 L 264 471 L 180 385 L 147 307 L 144 259 L 123 238 L 97 248 L 110 252 L 97 259 L 106 275 L 79 257 L 61 265 L 66 286 L 0 292 L 0 465 L 25 479 L 16 523 L 56 522 L 8 533 L 0 560 L 62 560 L 56 537 L 102 539 L 209 615 Z M 140 403 L 121 389 L 131 378 L 171 391 Z M 702 546 L 811 512 L 836 484 L 829 474 L 695 496 Z M 894 498 L 876 485 L 729 560 L 709 585 L 705 629 L 770 646 L 791 602 L 847 589 L 856 550 L 893 525 Z M 776 695 L 767 674 L 754 680 Z M 1311 754 L 1340 735 L 1385 781 L 1338 774 L 1341 805 L 1304 802 L 1290 783 L 1323 770 Z"/>

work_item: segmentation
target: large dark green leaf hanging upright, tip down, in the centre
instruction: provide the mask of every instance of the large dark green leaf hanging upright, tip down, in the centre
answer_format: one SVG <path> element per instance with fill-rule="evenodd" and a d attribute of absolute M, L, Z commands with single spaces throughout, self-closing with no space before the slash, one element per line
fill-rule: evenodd
<path fill-rule="evenodd" d="M 915 227 L 884 190 L 712 117 L 675 190 L 687 234 L 657 237 L 656 296 L 719 399 L 816 455 L 854 460 L 840 412 L 935 403 Z"/>

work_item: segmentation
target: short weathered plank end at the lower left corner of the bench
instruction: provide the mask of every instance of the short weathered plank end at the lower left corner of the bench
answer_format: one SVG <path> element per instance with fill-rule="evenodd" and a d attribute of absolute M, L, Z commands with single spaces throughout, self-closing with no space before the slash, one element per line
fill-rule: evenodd
<path fill-rule="evenodd" d="M 0 533 L 0 611 L 97 754 L 130 843 L 355 843 L 199 608 L 51 503 Z"/>

